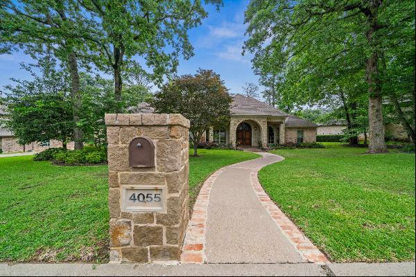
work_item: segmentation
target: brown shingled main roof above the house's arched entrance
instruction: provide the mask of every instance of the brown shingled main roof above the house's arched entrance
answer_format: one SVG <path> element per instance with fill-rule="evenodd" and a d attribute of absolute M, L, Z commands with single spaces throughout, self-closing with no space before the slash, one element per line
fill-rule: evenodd
<path fill-rule="evenodd" d="M 267 105 L 265 102 L 239 93 L 233 97 L 231 114 L 239 116 L 289 116 L 284 111 Z"/>

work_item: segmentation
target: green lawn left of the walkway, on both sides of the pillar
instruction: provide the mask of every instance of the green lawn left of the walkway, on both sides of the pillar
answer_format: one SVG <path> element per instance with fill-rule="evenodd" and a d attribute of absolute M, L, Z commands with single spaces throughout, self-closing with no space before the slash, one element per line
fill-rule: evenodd
<path fill-rule="evenodd" d="M 254 159 L 233 150 L 190 158 L 191 194 L 218 168 Z M 52 166 L 0 158 L 0 261 L 108 260 L 107 166 Z"/>

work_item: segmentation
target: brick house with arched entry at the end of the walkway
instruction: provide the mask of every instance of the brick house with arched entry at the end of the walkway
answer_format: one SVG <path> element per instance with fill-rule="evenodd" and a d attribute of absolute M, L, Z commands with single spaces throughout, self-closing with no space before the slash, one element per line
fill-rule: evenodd
<path fill-rule="evenodd" d="M 234 95 L 229 127 L 211 129 L 205 141 L 243 147 L 271 143 L 315 142 L 318 125 L 271 107 L 257 99 Z"/>

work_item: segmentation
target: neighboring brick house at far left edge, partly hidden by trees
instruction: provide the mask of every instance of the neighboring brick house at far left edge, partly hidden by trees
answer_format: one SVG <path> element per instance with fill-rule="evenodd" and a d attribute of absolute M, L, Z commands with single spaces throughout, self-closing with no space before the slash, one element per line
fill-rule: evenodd
<path fill-rule="evenodd" d="M 7 119 L 5 107 L 0 105 L 0 119 Z M 8 129 L 0 125 L 0 149 L 3 153 L 10 152 L 40 152 L 48 148 L 62 147 L 60 141 L 43 141 L 21 145 L 17 143 L 17 137 Z M 73 149 L 73 143 L 68 143 L 68 149 Z"/>

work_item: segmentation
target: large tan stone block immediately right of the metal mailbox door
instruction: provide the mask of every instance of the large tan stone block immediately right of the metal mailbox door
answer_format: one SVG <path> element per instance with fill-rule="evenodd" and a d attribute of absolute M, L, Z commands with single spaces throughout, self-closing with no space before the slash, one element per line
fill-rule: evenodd
<path fill-rule="evenodd" d="M 157 141 L 156 161 L 157 170 L 172 172 L 182 168 L 182 148 L 179 140 Z"/>

